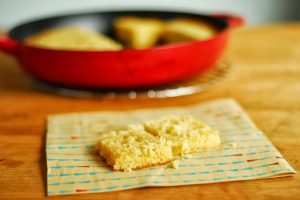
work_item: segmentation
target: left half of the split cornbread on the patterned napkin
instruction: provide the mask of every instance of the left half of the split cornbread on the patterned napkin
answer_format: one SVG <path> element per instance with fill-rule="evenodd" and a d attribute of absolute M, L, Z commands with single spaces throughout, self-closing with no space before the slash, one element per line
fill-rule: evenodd
<path fill-rule="evenodd" d="M 114 170 L 130 171 L 173 160 L 171 143 L 145 132 L 142 125 L 101 135 L 99 153 Z"/>

